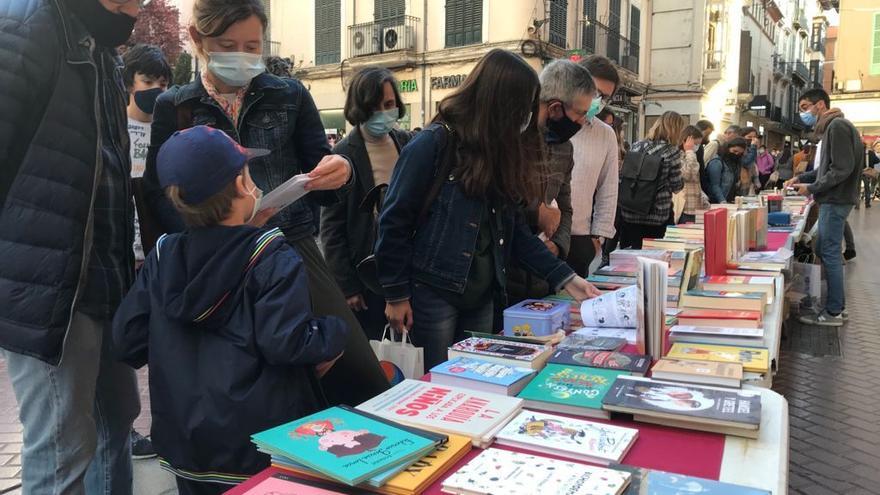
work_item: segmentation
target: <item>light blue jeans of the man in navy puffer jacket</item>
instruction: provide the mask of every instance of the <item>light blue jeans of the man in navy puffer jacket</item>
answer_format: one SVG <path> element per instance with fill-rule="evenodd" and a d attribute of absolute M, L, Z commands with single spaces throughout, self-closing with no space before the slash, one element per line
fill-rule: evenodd
<path fill-rule="evenodd" d="M 3 352 L 24 427 L 25 495 L 132 493 L 140 400 L 134 370 L 111 345 L 109 321 L 76 313 L 58 366 Z"/>

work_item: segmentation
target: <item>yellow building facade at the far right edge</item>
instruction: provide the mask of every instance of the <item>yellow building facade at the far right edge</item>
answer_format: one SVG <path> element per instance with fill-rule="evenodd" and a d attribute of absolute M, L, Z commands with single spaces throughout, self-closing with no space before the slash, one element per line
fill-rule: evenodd
<path fill-rule="evenodd" d="M 831 88 L 865 140 L 880 138 L 880 1 L 840 0 Z"/>

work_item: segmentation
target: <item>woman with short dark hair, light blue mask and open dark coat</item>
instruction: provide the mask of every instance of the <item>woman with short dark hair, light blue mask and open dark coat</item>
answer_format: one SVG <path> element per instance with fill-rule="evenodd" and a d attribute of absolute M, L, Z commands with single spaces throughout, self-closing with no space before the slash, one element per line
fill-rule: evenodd
<path fill-rule="evenodd" d="M 410 139 L 408 132 L 395 128 L 405 112 L 397 81 L 388 69 L 367 67 L 355 74 L 345 100 L 345 118 L 354 129 L 333 152 L 351 159 L 356 184 L 343 201 L 325 207 L 321 214 L 327 264 L 370 339 L 381 338 L 385 299 L 360 279 L 357 265 L 373 252 L 376 207 L 381 207 L 391 171 Z M 361 203 L 368 197 L 377 200 L 363 208 Z"/>

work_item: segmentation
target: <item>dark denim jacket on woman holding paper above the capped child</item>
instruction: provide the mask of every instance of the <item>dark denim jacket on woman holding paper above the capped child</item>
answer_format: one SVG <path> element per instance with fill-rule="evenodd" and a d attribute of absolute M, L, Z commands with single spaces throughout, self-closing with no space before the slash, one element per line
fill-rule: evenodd
<path fill-rule="evenodd" d="M 178 107 L 186 105 L 183 110 Z M 183 118 L 187 122 L 179 122 Z M 184 225 L 165 197 L 156 174 L 159 148 L 180 127 L 207 125 L 232 136 L 247 148 L 265 148 L 271 154 L 249 162 L 251 177 L 261 190 L 268 192 L 294 175 L 309 172 L 324 156 L 330 145 L 318 109 L 306 88 L 293 79 L 263 73 L 251 81 L 238 122 L 233 123 L 213 98 L 208 96 L 200 78 L 185 86 L 175 86 L 163 93 L 153 113 L 152 140 L 144 172 L 144 194 L 149 207 L 165 232 L 180 232 Z M 354 171 L 352 170 L 352 174 Z M 288 239 L 312 235 L 316 219 L 308 201 L 333 204 L 337 191 L 313 191 L 275 215 L 267 227 L 280 227 Z"/>

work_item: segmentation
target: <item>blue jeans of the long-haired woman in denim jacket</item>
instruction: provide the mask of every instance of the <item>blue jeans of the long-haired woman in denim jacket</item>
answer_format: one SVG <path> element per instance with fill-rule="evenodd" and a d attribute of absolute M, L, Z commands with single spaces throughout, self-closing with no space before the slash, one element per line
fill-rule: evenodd
<path fill-rule="evenodd" d="M 446 361 L 449 346 L 464 339 L 464 331 L 492 332 L 492 300 L 477 309 L 459 310 L 437 289 L 415 282 L 412 289 L 413 345 L 424 349 L 425 371 Z"/>

